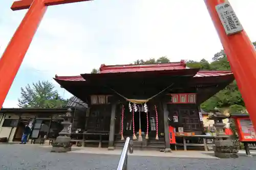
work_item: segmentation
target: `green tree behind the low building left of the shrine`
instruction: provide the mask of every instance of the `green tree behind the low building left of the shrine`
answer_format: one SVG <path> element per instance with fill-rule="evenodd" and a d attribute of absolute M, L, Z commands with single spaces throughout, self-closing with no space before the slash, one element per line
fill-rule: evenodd
<path fill-rule="evenodd" d="M 21 88 L 21 96 L 18 106 L 21 108 L 60 108 L 65 106 L 68 100 L 62 99 L 54 85 L 48 81 L 39 81 L 25 88 Z"/>

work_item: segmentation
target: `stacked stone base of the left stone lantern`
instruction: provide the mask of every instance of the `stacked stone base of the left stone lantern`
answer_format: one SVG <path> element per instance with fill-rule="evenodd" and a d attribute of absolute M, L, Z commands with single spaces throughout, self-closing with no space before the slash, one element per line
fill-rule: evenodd
<path fill-rule="evenodd" d="M 68 136 L 58 136 L 55 143 L 52 145 L 51 152 L 70 152 L 71 151 L 71 138 Z"/>

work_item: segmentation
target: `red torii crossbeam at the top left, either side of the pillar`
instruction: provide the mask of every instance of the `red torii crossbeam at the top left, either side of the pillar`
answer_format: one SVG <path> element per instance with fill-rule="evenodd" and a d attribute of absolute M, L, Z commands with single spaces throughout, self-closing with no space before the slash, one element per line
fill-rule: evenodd
<path fill-rule="evenodd" d="M 13 11 L 29 9 L 33 1 L 37 0 L 21 0 L 13 2 L 11 9 Z M 93 1 L 93 0 L 45 0 L 46 6 L 60 5 L 60 4 L 69 4 L 69 3 L 78 3 L 84 1 Z"/>

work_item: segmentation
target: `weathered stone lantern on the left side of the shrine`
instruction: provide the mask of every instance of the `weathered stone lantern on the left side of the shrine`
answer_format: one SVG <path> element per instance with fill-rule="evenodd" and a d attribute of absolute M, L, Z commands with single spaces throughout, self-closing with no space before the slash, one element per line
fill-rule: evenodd
<path fill-rule="evenodd" d="M 63 118 L 63 130 L 59 132 L 59 136 L 56 138 L 55 143 L 52 145 L 51 152 L 69 152 L 71 151 L 70 135 L 71 135 L 71 118 L 72 118 L 72 109 L 68 109 L 67 113 L 61 115 Z"/>

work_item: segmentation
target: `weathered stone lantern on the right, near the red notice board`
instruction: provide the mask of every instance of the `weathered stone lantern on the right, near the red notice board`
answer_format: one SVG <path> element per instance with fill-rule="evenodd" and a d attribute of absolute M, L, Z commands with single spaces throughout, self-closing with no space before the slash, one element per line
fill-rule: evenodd
<path fill-rule="evenodd" d="M 223 131 L 226 124 L 223 123 L 223 119 L 227 118 L 226 115 L 220 113 L 219 109 L 215 108 L 208 119 L 214 120 L 217 133 L 214 140 L 214 154 L 219 158 L 238 158 L 238 150 L 233 145 L 232 140 Z"/>

